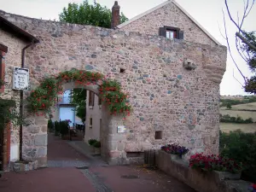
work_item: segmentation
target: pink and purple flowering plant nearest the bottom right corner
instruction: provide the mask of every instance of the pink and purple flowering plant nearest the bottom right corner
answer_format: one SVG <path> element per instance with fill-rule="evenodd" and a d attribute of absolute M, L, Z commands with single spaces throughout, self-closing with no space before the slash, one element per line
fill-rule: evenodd
<path fill-rule="evenodd" d="M 194 154 L 189 159 L 189 166 L 192 168 L 201 168 L 206 171 L 219 171 L 219 172 L 241 172 L 241 163 L 236 163 L 226 157 L 221 157 L 216 154 L 203 155 Z"/>

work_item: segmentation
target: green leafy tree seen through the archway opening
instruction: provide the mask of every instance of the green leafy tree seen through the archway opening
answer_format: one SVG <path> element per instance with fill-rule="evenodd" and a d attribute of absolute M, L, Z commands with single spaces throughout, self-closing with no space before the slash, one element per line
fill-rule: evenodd
<path fill-rule="evenodd" d="M 72 104 L 76 105 L 76 115 L 85 121 L 86 115 L 86 90 L 85 89 L 73 89 L 72 91 Z"/>

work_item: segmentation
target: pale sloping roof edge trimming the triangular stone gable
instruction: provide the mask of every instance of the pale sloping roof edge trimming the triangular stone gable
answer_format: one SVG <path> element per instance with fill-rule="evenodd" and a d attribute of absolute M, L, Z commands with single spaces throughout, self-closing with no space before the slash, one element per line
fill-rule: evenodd
<path fill-rule="evenodd" d="M 123 26 L 126 26 L 126 25 L 130 24 L 131 22 L 142 18 L 143 16 L 148 15 L 148 14 L 154 12 L 155 10 L 162 8 L 162 7 L 166 6 L 166 5 L 169 4 L 169 3 L 175 4 L 175 5 L 177 6 L 177 8 L 178 8 L 178 9 L 181 9 L 181 11 L 183 12 L 183 14 L 184 14 L 184 15 L 187 15 L 187 16 L 189 17 L 189 19 L 192 20 L 192 21 L 195 23 L 195 25 L 199 26 L 199 28 L 201 28 L 201 30 L 202 30 L 203 32 L 205 32 L 209 38 L 212 39 L 212 41 L 214 41 L 214 42 L 215 42 L 216 44 L 218 44 L 218 45 L 221 45 L 221 44 L 218 42 L 218 40 L 217 40 L 216 38 L 213 38 L 212 35 L 211 35 L 209 32 L 207 32 L 207 30 L 206 30 L 203 26 L 201 26 L 201 24 L 200 24 L 199 22 L 197 22 L 191 15 L 189 15 L 189 13 L 188 13 L 185 9 L 183 9 L 183 7 L 182 7 L 181 5 L 179 5 L 179 4 L 178 4 L 176 1 L 174 1 L 174 0 L 168 0 L 168 1 L 164 2 L 164 3 L 161 3 L 160 5 L 154 7 L 153 9 L 149 9 L 148 11 L 145 11 L 145 12 L 144 12 L 143 14 L 141 14 L 141 15 L 137 15 L 136 17 L 132 18 L 131 20 L 127 20 L 126 22 L 120 24 L 120 25 L 117 26 L 117 27 L 118 27 L 118 28 L 122 28 Z"/>

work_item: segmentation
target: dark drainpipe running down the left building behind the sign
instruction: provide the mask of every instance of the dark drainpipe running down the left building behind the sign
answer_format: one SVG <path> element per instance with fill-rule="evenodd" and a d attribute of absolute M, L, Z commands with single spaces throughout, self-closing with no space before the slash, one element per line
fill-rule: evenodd
<path fill-rule="evenodd" d="M 26 47 L 24 47 L 22 50 L 21 50 L 21 68 L 24 68 L 24 64 L 25 64 L 25 50 L 27 48 L 29 48 L 31 45 L 33 44 L 33 41 L 32 43 L 30 44 L 27 44 Z M 23 119 L 23 112 L 24 112 L 24 107 L 23 107 L 23 98 L 24 98 L 24 94 L 23 94 L 23 90 L 20 90 L 20 118 Z M 23 125 L 20 124 L 20 160 L 22 160 L 22 143 L 23 143 Z"/>

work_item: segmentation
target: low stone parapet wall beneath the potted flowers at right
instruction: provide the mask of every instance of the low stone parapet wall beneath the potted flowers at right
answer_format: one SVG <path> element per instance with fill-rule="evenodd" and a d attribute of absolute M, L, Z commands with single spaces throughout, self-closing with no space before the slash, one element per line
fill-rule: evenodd
<path fill-rule="evenodd" d="M 156 164 L 161 171 L 199 192 L 247 192 L 250 186 L 249 182 L 240 180 L 241 174 L 192 169 L 187 160 L 172 160 L 171 155 L 162 150 L 156 154 Z"/>

